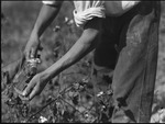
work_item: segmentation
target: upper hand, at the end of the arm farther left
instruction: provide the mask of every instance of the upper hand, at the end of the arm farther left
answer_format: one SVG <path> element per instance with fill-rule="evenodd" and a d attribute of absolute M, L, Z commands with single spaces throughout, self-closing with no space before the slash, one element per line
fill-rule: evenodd
<path fill-rule="evenodd" d="M 31 36 L 25 46 L 24 55 L 26 60 L 36 57 L 37 49 L 40 47 L 38 36 Z"/>

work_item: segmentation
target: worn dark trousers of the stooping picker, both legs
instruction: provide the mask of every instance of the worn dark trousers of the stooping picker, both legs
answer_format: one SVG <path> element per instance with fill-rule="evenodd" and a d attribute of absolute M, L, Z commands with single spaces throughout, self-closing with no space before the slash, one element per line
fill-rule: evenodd
<path fill-rule="evenodd" d="M 112 87 L 112 123 L 150 122 L 160 8 L 156 1 L 141 2 L 124 15 L 107 18 L 103 22 L 103 33 L 94 56 L 92 82 L 95 94 Z"/>

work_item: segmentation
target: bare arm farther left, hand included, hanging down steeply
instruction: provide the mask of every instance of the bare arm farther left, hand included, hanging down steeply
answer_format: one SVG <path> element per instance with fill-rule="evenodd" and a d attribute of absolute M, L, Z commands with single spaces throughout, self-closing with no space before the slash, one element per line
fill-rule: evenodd
<path fill-rule="evenodd" d="M 40 45 L 40 36 L 56 18 L 58 11 L 61 10 L 62 3 L 63 0 L 56 1 L 54 5 L 43 4 L 40 14 L 37 16 L 37 20 L 34 24 L 34 27 L 32 30 L 30 40 L 28 41 L 28 44 L 25 46 L 24 54 L 26 59 L 30 58 L 30 55 L 32 56 L 36 55 Z"/>

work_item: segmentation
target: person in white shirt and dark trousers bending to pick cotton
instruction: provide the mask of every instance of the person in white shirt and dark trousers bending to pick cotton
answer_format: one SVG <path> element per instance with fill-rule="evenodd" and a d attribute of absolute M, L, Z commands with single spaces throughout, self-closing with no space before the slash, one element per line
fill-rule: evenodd
<path fill-rule="evenodd" d="M 43 2 L 24 50 L 26 59 L 35 56 L 40 36 L 63 3 Z M 112 123 L 148 123 L 156 75 L 160 2 L 98 0 L 74 4 L 75 23 L 84 29 L 81 36 L 61 59 L 35 75 L 22 95 L 32 100 L 48 80 L 95 49 L 91 81 L 95 94 L 112 83 Z"/>

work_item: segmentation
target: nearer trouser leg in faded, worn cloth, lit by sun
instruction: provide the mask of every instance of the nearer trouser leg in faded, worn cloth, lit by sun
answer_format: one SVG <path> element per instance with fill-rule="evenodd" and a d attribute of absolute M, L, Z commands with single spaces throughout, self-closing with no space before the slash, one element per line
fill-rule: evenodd
<path fill-rule="evenodd" d="M 142 2 L 138 8 L 121 34 L 125 46 L 113 74 L 113 99 L 119 108 L 113 113 L 113 123 L 150 122 L 157 65 L 160 2 Z"/>

